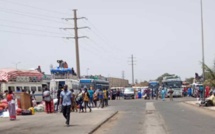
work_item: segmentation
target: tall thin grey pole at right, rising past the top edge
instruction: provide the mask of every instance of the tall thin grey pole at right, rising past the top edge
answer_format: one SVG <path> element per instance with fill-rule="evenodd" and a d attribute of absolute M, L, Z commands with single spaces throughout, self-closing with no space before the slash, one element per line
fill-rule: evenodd
<path fill-rule="evenodd" d="M 201 6 L 201 33 L 202 33 L 202 77 L 203 83 L 205 81 L 205 52 L 204 52 L 204 18 L 203 18 L 203 2 L 200 0 Z M 203 101 L 205 101 L 205 89 L 203 90 Z"/>

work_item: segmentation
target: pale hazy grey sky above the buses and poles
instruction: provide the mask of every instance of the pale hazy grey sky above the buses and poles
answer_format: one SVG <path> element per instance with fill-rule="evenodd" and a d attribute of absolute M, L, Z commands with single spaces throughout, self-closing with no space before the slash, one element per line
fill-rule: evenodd
<path fill-rule="evenodd" d="M 215 1 L 203 0 L 205 63 L 215 58 Z M 30 69 L 64 60 L 76 70 L 73 9 L 77 9 L 81 75 L 139 82 L 163 73 L 201 74 L 200 0 L 0 0 L 0 68 Z M 20 63 L 19 63 L 20 62 Z"/>

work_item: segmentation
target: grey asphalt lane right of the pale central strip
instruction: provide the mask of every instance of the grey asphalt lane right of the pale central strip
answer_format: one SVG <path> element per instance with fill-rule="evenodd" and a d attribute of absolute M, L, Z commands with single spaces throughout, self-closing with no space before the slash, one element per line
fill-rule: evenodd
<path fill-rule="evenodd" d="M 156 109 L 165 121 L 169 134 L 214 133 L 215 116 L 209 111 L 181 102 L 157 102 Z"/>

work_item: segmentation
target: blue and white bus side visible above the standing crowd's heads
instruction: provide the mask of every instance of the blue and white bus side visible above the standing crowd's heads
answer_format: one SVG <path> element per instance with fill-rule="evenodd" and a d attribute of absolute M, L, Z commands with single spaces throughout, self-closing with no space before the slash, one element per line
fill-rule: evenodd
<path fill-rule="evenodd" d="M 87 88 L 92 87 L 93 89 L 109 89 L 109 82 L 100 79 L 80 79 L 81 88 L 85 86 Z"/>

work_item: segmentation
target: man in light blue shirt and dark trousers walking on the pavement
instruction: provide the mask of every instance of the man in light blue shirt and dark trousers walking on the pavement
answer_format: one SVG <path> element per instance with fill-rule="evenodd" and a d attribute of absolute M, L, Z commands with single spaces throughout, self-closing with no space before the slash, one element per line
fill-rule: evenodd
<path fill-rule="evenodd" d="M 72 105 L 72 93 L 68 90 L 68 86 L 64 85 L 64 90 L 60 94 L 60 103 L 62 104 L 63 116 L 66 119 L 66 125 L 70 123 L 70 109 Z"/>

